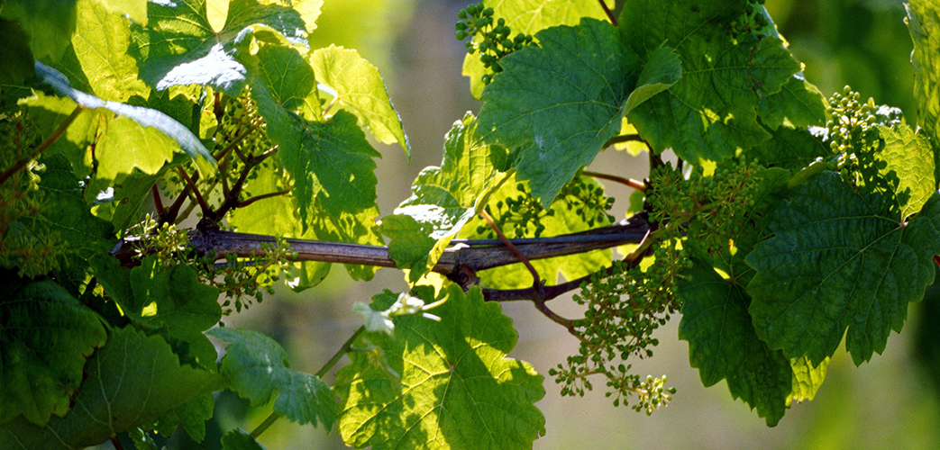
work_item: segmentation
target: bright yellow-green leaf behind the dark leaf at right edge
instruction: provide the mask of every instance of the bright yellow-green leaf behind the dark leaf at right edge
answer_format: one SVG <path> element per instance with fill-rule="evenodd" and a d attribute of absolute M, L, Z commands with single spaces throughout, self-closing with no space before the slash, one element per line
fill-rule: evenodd
<path fill-rule="evenodd" d="M 891 184 L 901 216 L 917 212 L 936 192 L 933 151 L 923 133 L 915 132 L 906 124 L 893 127 L 877 125 L 885 147 L 875 154 L 881 162 L 879 172 Z"/>

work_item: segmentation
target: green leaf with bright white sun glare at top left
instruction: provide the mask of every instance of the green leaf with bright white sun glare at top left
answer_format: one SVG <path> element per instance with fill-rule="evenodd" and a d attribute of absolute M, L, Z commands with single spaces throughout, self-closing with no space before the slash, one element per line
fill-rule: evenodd
<path fill-rule="evenodd" d="M 228 4 L 225 26 L 216 32 L 205 0 L 180 0 L 150 2 L 148 19 L 146 27 L 133 27 L 135 45 L 131 49 L 140 77 L 148 85 L 158 90 L 172 85 L 211 85 L 237 96 L 246 84 L 247 69 L 236 54 L 243 39 L 255 31 L 251 25 L 266 25 L 289 39 L 305 39 L 309 18 L 274 2 L 234 0 Z"/>

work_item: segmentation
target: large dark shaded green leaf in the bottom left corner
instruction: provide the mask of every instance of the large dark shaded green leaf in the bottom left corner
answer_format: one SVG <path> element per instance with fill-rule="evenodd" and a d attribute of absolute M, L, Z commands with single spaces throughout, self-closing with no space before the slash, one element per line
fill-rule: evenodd
<path fill-rule="evenodd" d="M 17 419 L 0 427 L 0 449 L 71 450 L 141 427 L 212 390 L 218 374 L 180 365 L 159 335 L 115 328 L 86 363 L 86 380 L 64 418 L 45 427 Z"/>

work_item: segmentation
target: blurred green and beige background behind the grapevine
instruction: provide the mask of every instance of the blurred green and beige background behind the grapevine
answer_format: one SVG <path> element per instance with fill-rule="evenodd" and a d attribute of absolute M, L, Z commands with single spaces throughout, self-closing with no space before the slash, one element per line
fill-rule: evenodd
<path fill-rule="evenodd" d="M 383 214 L 409 195 L 421 168 L 440 163 L 450 125 L 463 112 L 479 109 L 461 75 L 463 45 L 454 39 L 457 11 L 468 1 L 325 0 L 318 28 L 311 34 L 312 47 L 337 43 L 354 48 L 379 68 L 411 140 L 411 163 L 398 147 L 377 146 L 383 153 L 377 174 Z M 767 0 L 767 8 L 793 54 L 806 64 L 807 80 L 824 95 L 852 85 L 863 99 L 901 107 L 909 121 L 916 120 L 913 45 L 900 1 Z M 594 164 L 643 178 L 647 159 L 606 151 Z M 622 216 L 630 193 L 609 188 L 608 194 L 619 198 L 615 211 Z M 368 302 L 383 288 L 407 287 L 397 271 L 381 271 L 362 283 L 334 267 L 320 287 L 302 294 L 278 289 L 226 322 L 273 336 L 290 351 L 294 368 L 315 372 L 360 325 L 350 312 L 352 303 Z M 929 298 L 935 297 L 932 292 Z M 556 383 L 545 380 L 547 394 L 538 406 L 545 414 L 547 434 L 534 448 L 940 448 L 940 343 L 933 337 L 940 329 L 938 304 L 933 300 L 912 305 L 904 333 L 892 335 L 885 355 L 875 355 L 868 364 L 856 368 L 839 352 L 815 400 L 794 405 L 774 428 L 766 427 L 743 402 L 732 400 L 724 382 L 701 385 L 697 370 L 688 365 L 687 344 L 677 338 L 674 318 L 658 331 L 661 344 L 655 355 L 634 365 L 640 375 L 668 376 L 667 384 L 678 390 L 668 408 L 648 417 L 614 408 L 600 389 L 583 398 L 558 396 Z M 565 298 L 554 301 L 553 307 L 562 315 L 578 315 Z M 519 331 L 519 344 L 510 356 L 545 374 L 576 352 L 576 340 L 531 304 L 508 303 L 504 311 Z M 218 397 L 216 404 L 216 419 L 204 445 L 184 442 L 177 433 L 167 446 L 214 448 L 223 430 L 250 430 L 271 411 L 270 406 L 248 408 L 229 395 Z M 275 423 L 260 442 L 272 450 L 346 448 L 335 433 L 287 420 Z"/>

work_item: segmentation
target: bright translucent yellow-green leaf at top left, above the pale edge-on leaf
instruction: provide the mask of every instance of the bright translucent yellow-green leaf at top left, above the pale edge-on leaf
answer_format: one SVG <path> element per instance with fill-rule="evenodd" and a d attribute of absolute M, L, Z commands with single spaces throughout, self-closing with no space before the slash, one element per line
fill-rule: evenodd
<path fill-rule="evenodd" d="M 79 0 L 76 12 L 71 42 L 92 93 L 105 101 L 146 97 L 149 87 L 137 78 L 137 62 L 127 54 L 130 19 L 92 0 Z"/>

